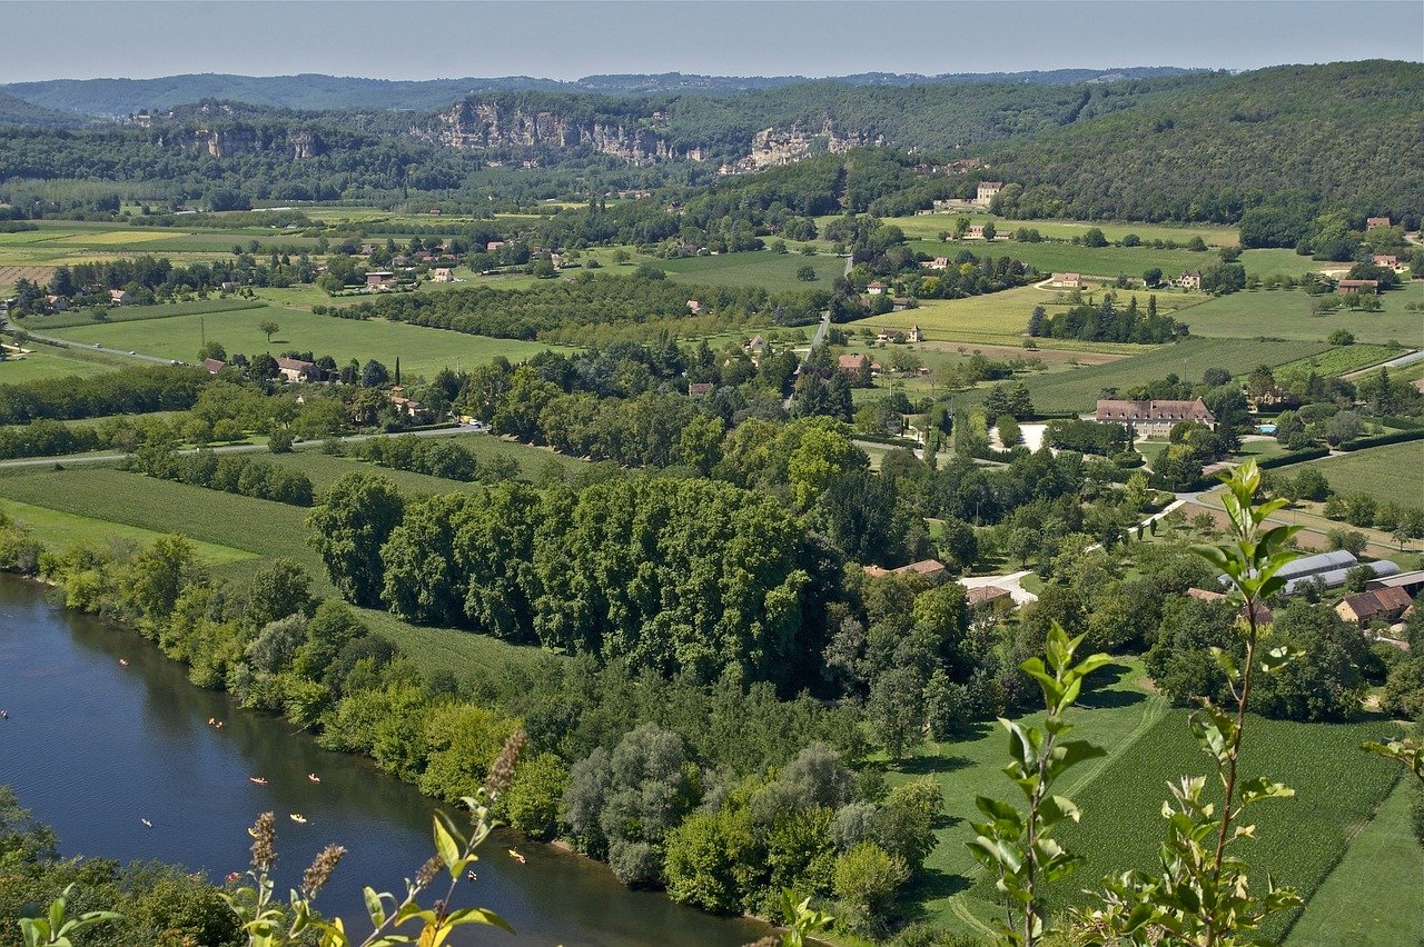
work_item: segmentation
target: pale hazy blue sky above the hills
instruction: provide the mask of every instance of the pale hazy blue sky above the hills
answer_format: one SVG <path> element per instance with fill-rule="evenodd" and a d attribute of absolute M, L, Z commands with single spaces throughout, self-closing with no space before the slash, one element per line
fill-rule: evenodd
<path fill-rule="evenodd" d="M 48 3 L 0 0 L 0 81 L 844 75 L 1424 58 L 1424 1 Z"/>

